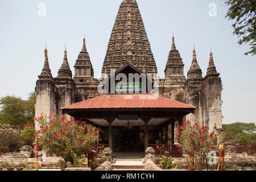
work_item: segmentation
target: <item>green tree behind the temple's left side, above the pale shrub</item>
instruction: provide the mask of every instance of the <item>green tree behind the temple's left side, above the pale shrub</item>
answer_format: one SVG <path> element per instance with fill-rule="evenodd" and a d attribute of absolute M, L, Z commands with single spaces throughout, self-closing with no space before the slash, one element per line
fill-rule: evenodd
<path fill-rule="evenodd" d="M 0 123 L 14 125 L 22 129 L 26 123 L 34 122 L 35 92 L 29 94 L 28 100 L 16 96 L 0 98 Z"/>

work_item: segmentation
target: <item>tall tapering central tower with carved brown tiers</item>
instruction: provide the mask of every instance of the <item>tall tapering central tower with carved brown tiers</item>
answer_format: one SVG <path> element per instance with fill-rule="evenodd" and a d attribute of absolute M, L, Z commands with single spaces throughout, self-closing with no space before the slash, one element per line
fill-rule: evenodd
<path fill-rule="evenodd" d="M 144 73 L 157 73 L 150 42 L 137 2 L 123 0 L 115 19 L 106 52 L 102 74 L 110 75 L 110 69 L 118 69 L 130 63 Z"/>

